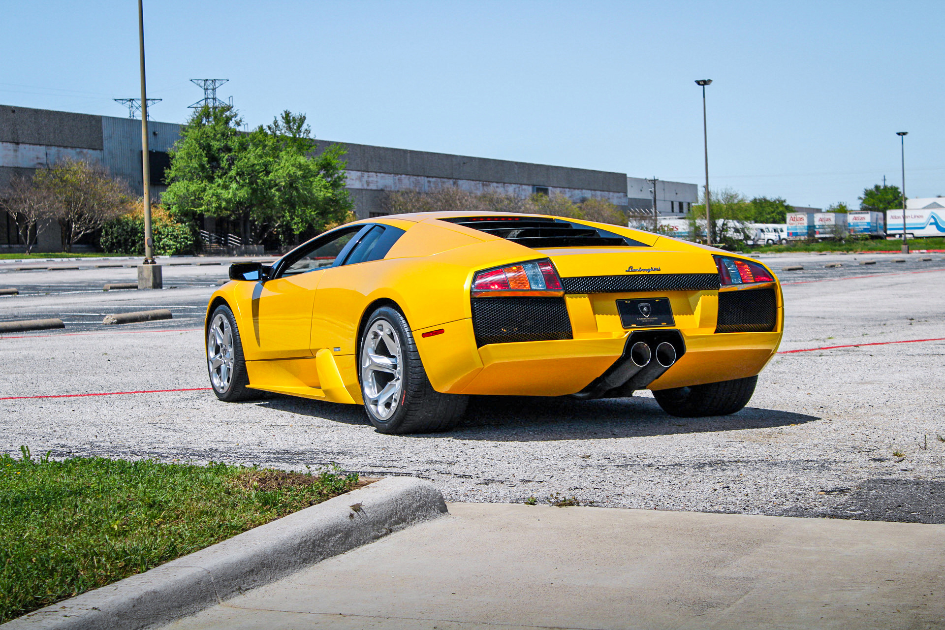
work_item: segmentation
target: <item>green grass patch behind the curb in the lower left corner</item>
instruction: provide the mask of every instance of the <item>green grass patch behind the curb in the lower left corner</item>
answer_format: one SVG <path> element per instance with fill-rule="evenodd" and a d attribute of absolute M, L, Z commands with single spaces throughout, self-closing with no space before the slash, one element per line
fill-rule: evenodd
<path fill-rule="evenodd" d="M 358 485 L 357 474 L 0 456 L 0 623 Z"/>

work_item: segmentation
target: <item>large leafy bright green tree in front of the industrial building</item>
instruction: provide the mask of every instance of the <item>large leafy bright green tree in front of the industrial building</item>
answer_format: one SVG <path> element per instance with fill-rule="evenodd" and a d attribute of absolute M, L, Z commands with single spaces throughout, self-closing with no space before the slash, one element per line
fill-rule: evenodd
<path fill-rule="evenodd" d="M 225 217 L 241 226 L 244 243 L 275 235 L 285 244 L 305 230 L 324 230 L 352 210 L 345 190 L 345 150 L 314 148 L 304 114 L 283 111 L 271 125 L 243 132 L 229 106 L 196 111 L 171 150 L 170 213 Z"/>

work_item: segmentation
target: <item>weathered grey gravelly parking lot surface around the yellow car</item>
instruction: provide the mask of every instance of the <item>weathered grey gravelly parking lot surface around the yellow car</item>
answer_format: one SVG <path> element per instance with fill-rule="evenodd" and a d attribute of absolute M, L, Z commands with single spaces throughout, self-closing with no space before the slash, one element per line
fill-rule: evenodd
<path fill-rule="evenodd" d="M 133 281 L 135 270 L 2 263 L 0 287 L 21 295 L 0 298 L 0 321 L 60 316 L 66 329 L 0 337 L 0 448 L 294 469 L 335 462 L 429 478 L 460 502 L 558 493 L 614 507 L 945 522 L 945 255 L 762 260 L 784 282 L 785 352 L 742 412 L 667 417 L 646 392 L 491 398 L 474 400 L 453 433 L 414 436 L 377 434 L 354 406 L 216 400 L 200 326 L 225 266 L 165 265 L 164 286 L 178 288 L 105 293 L 104 283 Z M 796 265 L 804 268 L 782 271 Z M 100 323 L 153 308 L 174 319 Z M 890 343 L 916 340 L 927 341 Z M 823 349 L 854 344 L 881 345 Z M 99 395 L 113 392 L 150 393 Z M 57 396 L 67 397 L 45 398 Z"/>

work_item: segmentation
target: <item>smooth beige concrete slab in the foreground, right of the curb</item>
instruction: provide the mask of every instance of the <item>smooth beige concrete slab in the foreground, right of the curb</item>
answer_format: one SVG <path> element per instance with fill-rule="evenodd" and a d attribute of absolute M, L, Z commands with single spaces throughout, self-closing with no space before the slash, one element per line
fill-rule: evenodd
<path fill-rule="evenodd" d="M 449 509 L 167 628 L 945 627 L 945 525 Z"/>

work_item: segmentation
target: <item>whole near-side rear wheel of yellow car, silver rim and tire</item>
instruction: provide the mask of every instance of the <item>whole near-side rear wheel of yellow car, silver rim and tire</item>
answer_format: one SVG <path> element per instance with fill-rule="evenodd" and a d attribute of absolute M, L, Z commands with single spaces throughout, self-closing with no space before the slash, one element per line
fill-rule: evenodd
<path fill-rule="evenodd" d="M 383 434 L 448 431 L 466 411 L 468 396 L 440 394 L 430 384 L 407 320 L 383 306 L 361 335 L 358 372 L 365 411 Z"/>

